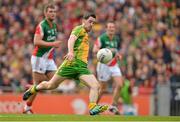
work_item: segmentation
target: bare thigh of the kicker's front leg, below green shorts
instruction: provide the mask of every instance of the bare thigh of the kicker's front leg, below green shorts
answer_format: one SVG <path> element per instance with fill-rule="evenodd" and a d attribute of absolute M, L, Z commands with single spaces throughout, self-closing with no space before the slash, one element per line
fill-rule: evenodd
<path fill-rule="evenodd" d="M 97 81 L 96 77 L 93 74 L 89 75 L 81 75 L 79 79 L 85 83 L 88 87 L 98 87 L 100 88 L 100 84 Z"/>

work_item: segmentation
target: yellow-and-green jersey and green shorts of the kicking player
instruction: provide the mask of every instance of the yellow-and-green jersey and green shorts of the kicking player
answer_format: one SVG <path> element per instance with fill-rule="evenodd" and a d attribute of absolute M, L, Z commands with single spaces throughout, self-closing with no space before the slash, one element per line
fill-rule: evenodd
<path fill-rule="evenodd" d="M 82 25 L 76 26 L 71 35 L 75 35 L 77 40 L 74 44 L 74 59 L 72 61 L 64 60 L 61 66 L 58 68 L 56 74 L 79 81 L 81 75 L 91 74 L 87 68 L 88 53 L 89 53 L 89 38 L 88 33 Z"/>

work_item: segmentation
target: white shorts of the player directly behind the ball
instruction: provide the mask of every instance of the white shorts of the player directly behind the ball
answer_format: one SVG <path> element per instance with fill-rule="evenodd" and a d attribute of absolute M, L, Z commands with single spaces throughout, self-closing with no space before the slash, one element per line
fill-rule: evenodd
<path fill-rule="evenodd" d="M 118 64 L 114 66 L 108 66 L 98 62 L 97 64 L 97 77 L 99 81 L 108 81 L 111 77 L 122 76 L 121 70 Z"/>

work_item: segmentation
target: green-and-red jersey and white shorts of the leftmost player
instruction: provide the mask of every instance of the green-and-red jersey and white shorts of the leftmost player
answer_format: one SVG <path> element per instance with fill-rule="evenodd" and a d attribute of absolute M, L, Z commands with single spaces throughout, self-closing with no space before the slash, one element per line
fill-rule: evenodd
<path fill-rule="evenodd" d="M 41 35 L 43 41 L 54 42 L 57 36 L 57 27 L 53 23 L 50 27 L 48 21 L 44 19 L 36 27 L 36 35 Z M 57 66 L 53 60 L 54 47 L 37 46 L 33 50 L 31 57 L 33 72 L 45 73 L 46 71 L 55 71 Z"/>

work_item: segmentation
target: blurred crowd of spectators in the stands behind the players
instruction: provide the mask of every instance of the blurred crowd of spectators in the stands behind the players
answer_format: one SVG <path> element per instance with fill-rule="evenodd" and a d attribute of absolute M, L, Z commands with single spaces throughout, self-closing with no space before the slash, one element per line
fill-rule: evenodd
<path fill-rule="evenodd" d="M 48 0 L 0 0 L 0 92 L 22 92 L 32 84 L 30 57 L 35 26 L 43 19 Z M 54 0 L 57 5 L 59 65 L 67 53 L 71 29 L 84 12 L 95 11 L 97 23 L 90 33 L 89 68 L 95 73 L 92 46 L 114 20 L 121 39 L 123 75 L 133 86 L 154 90 L 158 84 L 180 82 L 180 1 L 179 0 Z M 73 83 L 64 83 L 66 89 Z M 68 90 L 65 91 L 68 91 Z M 83 89 L 83 88 L 82 88 Z M 150 92 L 151 92 L 150 90 Z"/>

